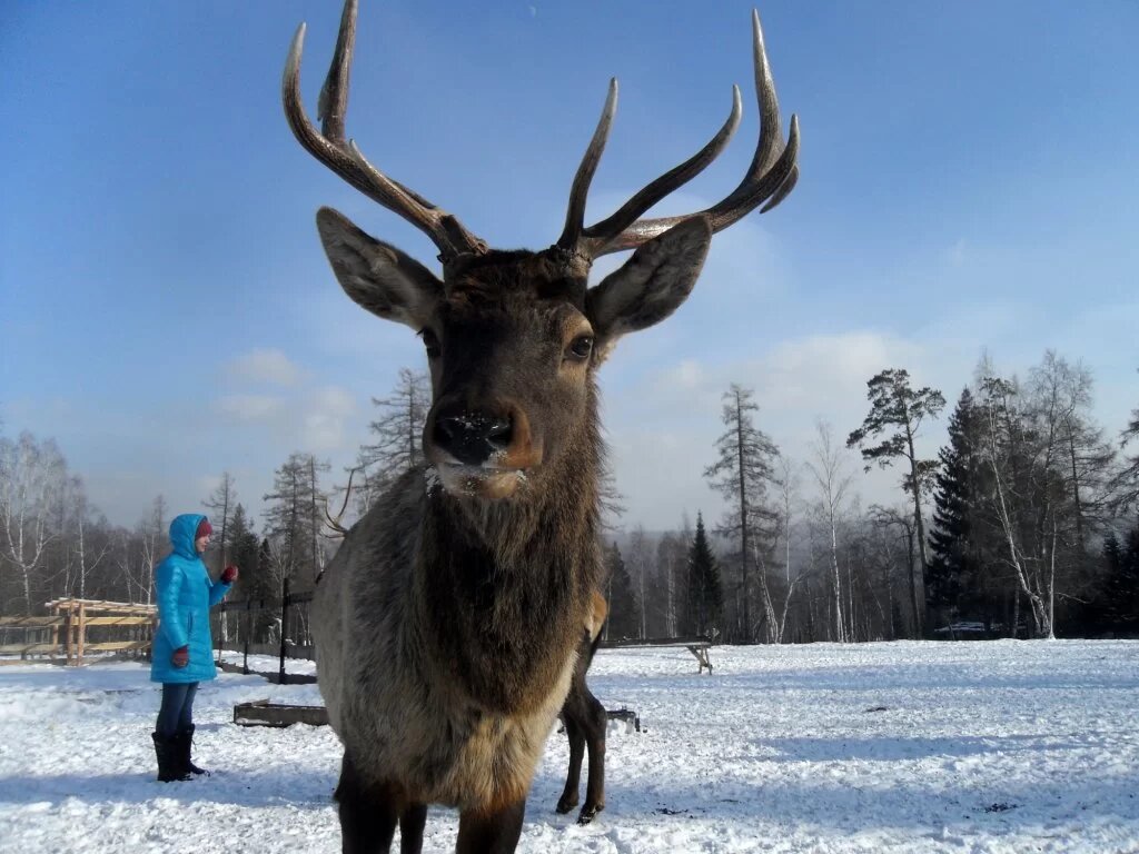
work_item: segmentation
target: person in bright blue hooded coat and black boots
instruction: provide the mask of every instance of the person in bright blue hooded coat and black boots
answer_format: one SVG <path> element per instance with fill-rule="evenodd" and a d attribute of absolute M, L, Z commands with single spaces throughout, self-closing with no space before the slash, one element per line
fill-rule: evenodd
<path fill-rule="evenodd" d="M 210 608 L 237 580 L 227 566 L 218 582 L 210 580 L 202 555 L 213 526 L 200 514 L 183 514 L 170 523 L 173 551 L 155 567 L 158 627 L 150 656 L 150 681 L 162 682 L 162 707 L 151 733 L 163 782 L 207 773 L 190 762 L 194 742 L 194 695 L 198 683 L 215 679 Z"/>

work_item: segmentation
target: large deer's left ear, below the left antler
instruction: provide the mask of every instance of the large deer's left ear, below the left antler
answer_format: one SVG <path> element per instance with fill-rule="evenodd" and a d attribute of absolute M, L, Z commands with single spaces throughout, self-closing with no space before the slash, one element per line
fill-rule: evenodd
<path fill-rule="evenodd" d="M 427 326 L 443 295 L 431 270 L 330 207 L 317 212 L 317 230 L 341 287 L 358 305 L 417 332 Z"/>

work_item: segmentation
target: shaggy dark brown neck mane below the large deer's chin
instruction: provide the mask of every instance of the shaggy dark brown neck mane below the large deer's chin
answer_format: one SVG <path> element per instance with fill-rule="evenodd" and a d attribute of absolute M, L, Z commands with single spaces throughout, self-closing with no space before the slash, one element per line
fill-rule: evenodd
<path fill-rule="evenodd" d="M 601 443 L 593 417 L 541 477 L 503 501 L 425 499 L 418 607 L 439 673 L 484 712 L 547 700 L 598 583 Z M 536 481 L 538 478 L 535 478 Z"/>

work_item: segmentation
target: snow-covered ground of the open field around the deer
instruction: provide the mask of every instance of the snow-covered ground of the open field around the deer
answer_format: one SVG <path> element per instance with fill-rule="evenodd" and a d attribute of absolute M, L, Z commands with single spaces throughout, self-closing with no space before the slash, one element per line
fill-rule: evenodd
<path fill-rule="evenodd" d="M 591 683 L 644 731 L 609 729 L 607 810 L 556 815 L 550 738 L 519 851 L 1139 852 L 1139 642 L 601 650 Z M 272 663 L 265 663 L 267 668 Z M 236 703 L 316 685 L 222 674 L 196 758 L 154 780 L 144 666 L 0 668 L 0 851 L 338 852 L 327 728 L 235 725 Z M 433 808 L 425 849 L 451 851 Z"/>

